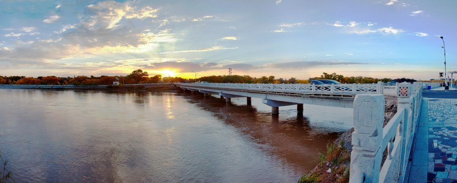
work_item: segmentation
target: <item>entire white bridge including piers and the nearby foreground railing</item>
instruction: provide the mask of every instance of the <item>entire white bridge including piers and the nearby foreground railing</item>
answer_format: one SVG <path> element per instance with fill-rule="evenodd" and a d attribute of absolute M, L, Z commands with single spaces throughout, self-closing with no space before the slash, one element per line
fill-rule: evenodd
<path fill-rule="evenodd" d="M 352 151 L 349 182 L 403 182 L 407 176 L 413 137 L 418 127 L 422 90 L 439 83 L 376 84 L 234 84 L 175 83 L 192 92 L 233 97 L 261 98 L 278 113 L 279 106 L 303 104 L 353 108 Z M 397 113 L 383 127 L 384 95 L 398 97 Z M 302 105 L 300 107 L 300 105 Z M 383 160 L 383 152 L 387 155 Z M 381 166 L 382 165 L 382 166 Z"/>

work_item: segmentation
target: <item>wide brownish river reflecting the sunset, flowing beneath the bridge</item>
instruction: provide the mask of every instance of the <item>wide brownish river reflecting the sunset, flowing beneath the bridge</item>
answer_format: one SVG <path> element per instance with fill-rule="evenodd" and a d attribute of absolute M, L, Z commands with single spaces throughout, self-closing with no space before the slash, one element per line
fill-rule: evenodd
<path fill-rule="evenodd" d="M 0 89 L 16 182 L 297 182 L 352 109 L 189 93 Z"/>

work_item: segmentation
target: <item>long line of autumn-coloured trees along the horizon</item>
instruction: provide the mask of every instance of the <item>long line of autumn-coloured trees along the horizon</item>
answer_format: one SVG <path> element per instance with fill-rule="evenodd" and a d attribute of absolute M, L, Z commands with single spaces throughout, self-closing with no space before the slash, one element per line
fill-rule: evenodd
<path fill-rule="evenodd" d="M 376 83 L 378 81 L 389 82 L 390 78 L 372 78 L 363 76 L 343 76 L 336 73 L 322 73 L 319 77 L 309 79 L 297 79 L 296 77 L 275 78 L 275 76 L 251 77 L 249 75 L 212 75 L 200 78 L 182 78 L 182 77 L 162 77 L 160 74 L 149 76 L 146 71 L 141 69 L 135 70 L 127 76 L 74 76 L 74 77 L 25 77 L 25 76 L 0 76 L 0 84 L 34 84 L 34 85 L 111 85 L 114 81 L 120 84 L 142 84 L 142 83 L 160 83 L 160 82 L 209 82 L 209 83 L 274 83 L 274 84 L 307 84 L 310 79 L 333 79 L 341 83 Z M 395 79 L 395 81 L 413 82 L 413 79 Z"/>

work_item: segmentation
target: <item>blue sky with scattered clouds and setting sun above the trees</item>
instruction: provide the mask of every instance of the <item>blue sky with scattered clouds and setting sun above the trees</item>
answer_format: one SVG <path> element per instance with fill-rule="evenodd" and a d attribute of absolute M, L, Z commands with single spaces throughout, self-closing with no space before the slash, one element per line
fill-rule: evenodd
<path fill-rule="evenodd" d="M 0 75 L 325 73 L 438 79 L 457 70 L 457 1 L 0 0 Z M 444 37 L 446 58 L 444 57 Z M 457 74 L 456 74 L 457 77 Z"/>

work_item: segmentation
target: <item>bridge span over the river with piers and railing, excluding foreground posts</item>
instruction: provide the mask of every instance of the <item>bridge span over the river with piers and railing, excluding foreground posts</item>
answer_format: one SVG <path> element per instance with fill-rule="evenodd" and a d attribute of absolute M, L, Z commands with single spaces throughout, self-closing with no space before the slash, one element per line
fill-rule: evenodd
<path fill-rule="evenodd" d="M 247 105 L 251 98 L 262 99 L 262 103 L 272 107 L 272 114 L 279 113 L 279 107 L 297 105 L 303 112 L 303 104 L 352 108 L 356 94 L 382 93 L 383 85 L 378 84 L 239 84 L 239 83 L 175 83 L 185 90 L 217 94 L 225 98 L 246 97 Z"/>

